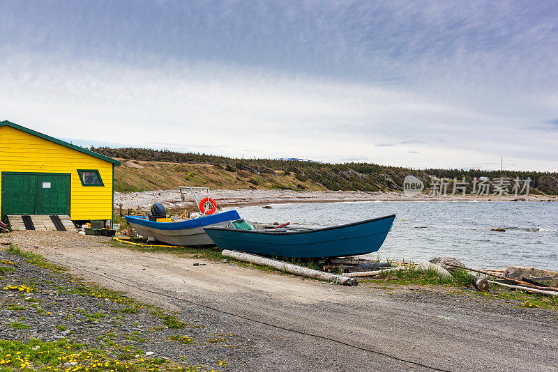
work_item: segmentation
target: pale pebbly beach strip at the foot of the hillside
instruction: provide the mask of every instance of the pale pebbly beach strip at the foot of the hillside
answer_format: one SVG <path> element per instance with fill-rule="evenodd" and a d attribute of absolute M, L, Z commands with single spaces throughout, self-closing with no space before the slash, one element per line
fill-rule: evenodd
<path fill-rule="evenodd" d="M 293 191 L 278 189 L 214 189 L 209 196 L 220 207 L 266 206 L 285 203 L 340 203 L 359 201 L 558 201 L 556 195 L 417 195 L 408 197 L 402 192 L 357 192 L 357 191 Z M 205 197 L 198 194 L 199 199 Z M 180 209 L 194 207 L 191 195 L 181 200 L 179 190 L 156 190 L 145 192 L 114 193 L 114 205 L 123 209 L 149 208 L 153 203 L 163 203 L 165 208 Z"/>

